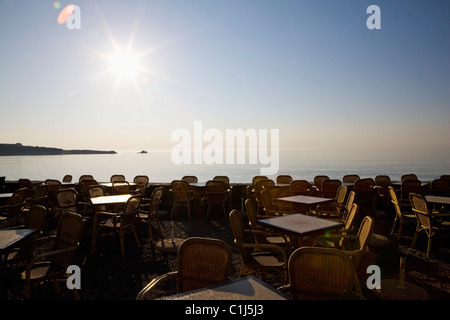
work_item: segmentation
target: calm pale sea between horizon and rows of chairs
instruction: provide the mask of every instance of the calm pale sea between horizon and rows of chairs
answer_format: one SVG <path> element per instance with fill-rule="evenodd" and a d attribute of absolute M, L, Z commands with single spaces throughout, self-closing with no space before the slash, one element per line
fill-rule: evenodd
<path fill-rule="evenodd" d="M 124 174 L 128 181 L 132 181 L 136 175 L 143 174 L 151 182 L 170 182 L 184 175 L 195 175 L 199 181 L 226 175 L 231 182 L 246 183 L 260 174 L 261 167 L 264 166 L 176 165 L 170 151 L 0 157 L 0 176 L 6 176 L 6 180 L 61 180 L 66 174 L 78 180 L 80 175 L 92 174 L 97 181 L 109 181 L 113 174 Z M 280 150 L 278 174 L 311 181 L 318 174 L 342 179 L 343 175 L 352 173 L 362 178 L 386 174 L 392 180 L 400 179 L 403 174 L 415 173 L 420 180 L 432 180 L 442 174 L 450 174 L 450 150 Z"/>

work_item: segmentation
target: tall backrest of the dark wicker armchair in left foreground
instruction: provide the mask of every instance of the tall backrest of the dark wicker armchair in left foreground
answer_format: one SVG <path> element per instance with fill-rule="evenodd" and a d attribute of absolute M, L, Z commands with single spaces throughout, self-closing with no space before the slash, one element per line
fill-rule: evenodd
<path fill-rule="evenodd" d="M 83 218 L 75 212 L 67 211 L 58 221 L 54 250 L 78 247 L 83 231 Z M 62 268 L 72 264 L 75 250 L 55 256 L 52 261 Z"/>

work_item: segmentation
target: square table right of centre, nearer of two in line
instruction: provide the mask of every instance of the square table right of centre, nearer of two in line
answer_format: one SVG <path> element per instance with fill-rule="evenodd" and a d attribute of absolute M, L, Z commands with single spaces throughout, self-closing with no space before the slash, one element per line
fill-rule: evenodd
<path fill-rule="evenodd" d="M 326 231 L 341 228 L 343 225 L 342 222 L 317 218 L 301 213 L 259 219 L 257 223 L 287 233 L 294 240 L 293 242 L 297 243 L 299 248 L 303 245 L 303 238 L 305 236 L 320 235 Z"/>

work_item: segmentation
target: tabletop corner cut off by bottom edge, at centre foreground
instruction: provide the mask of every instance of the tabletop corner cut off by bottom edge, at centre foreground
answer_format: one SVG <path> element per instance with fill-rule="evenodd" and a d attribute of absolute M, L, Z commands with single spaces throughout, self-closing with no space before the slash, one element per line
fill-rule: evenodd
<path fill-rule="evenodd" d="M 289 297 L 256 278 L 247 276 L 220 285 L 183 292 L 161 300 L 289 300 Z"/>

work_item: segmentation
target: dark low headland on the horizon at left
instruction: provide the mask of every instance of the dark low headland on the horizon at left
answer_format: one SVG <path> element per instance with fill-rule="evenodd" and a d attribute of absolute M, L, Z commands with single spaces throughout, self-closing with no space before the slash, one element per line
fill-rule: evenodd
<path fill-rule="evenodd" d="M 21 143 L 0 143 L 0 156 L 40 156 L 64 154 L 116 154 L 115 151 L 100 150 L 64 150 L 60 148 L 24 146 Z"/>

